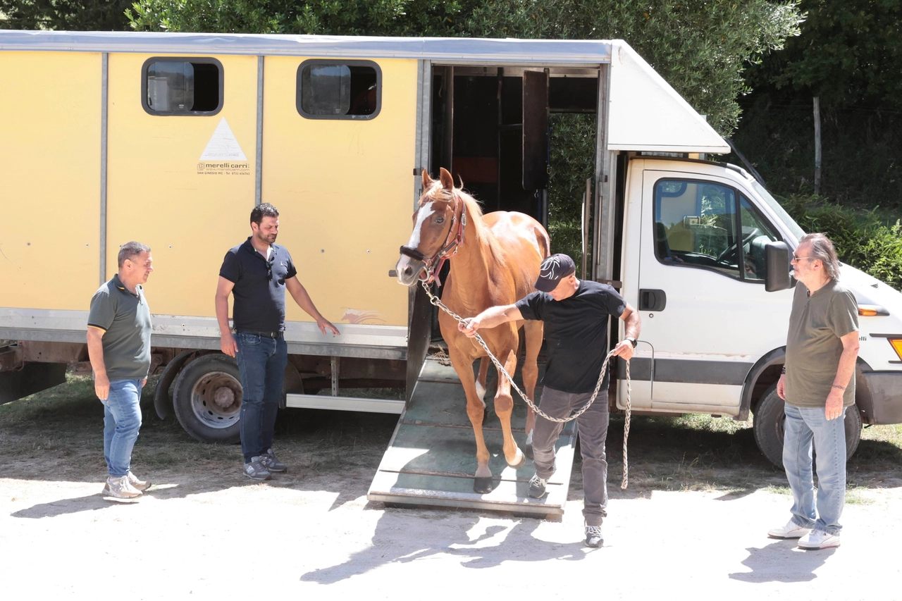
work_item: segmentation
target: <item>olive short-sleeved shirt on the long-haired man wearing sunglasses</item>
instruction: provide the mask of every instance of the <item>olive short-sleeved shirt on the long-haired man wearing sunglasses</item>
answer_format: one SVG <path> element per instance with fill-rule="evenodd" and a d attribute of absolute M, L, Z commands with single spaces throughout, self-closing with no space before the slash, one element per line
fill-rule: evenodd
<path fill-rule="evenodd" d="M 841 337 L 858 331 L 858 303 L 832 280 L 809 296 L 796 284 L 787 334 L 786 401 L 796 407 L 824 407 L 842 356 Z M 855 374 L 842 395 L 842 406 L 855 402 Z"/>

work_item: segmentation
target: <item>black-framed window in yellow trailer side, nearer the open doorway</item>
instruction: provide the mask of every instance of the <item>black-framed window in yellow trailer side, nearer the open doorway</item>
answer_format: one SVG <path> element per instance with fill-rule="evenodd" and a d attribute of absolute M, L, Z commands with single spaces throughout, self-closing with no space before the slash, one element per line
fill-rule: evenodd
<path fill-rule="evenodd" d="M 308 119 L 373 119 L 382 103 L 382 70 L 368 60 L 306 60 L 296 102 Z"/>

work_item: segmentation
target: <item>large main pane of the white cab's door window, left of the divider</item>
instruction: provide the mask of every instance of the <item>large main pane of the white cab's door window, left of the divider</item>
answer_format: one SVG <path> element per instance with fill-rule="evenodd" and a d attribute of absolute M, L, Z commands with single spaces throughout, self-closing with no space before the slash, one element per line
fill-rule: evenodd
<path fill-rule="evenodd" d="M 718 183 L 658 180 L 655 254 L 664 264 L 705 267 L 741 278 L 736 192 Z"/>

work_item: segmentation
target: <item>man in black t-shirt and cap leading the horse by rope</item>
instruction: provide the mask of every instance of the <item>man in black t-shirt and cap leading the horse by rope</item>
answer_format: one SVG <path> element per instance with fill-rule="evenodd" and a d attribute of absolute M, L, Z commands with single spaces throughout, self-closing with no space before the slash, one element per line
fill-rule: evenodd
<path fill-rule="evenodd" d="M 566 418 L 590 398 L 608 349 L 608 316 L 625 322 L 626 337 L 614 355 L 629 360 L 639 336 L 639 313 L 611 286 L 576 279 L 576 267 L 566 254 L 552 254 L 542 262 L 536 290 L 512 305 L 491 307 L 458 328 L 469 337 L 476 330 L 508 321 L 541 319 L 545 324 L 548 364 L 542 379 L 539 407 L 551 417 Z M 610 369 L 608 370 L 610 374 Z M 604 440 L 608 433 L 608 374 L 588 411 L 576 419 L 583 454 L 585 544 L 603 545 L 602 521 L 607 515 L 608 464 Z M 555 443 L 564 424 L 541 416 L 532 440 L 536 475 L 529 480 L 529 496 L 545 495 L 555 471 Z"/>

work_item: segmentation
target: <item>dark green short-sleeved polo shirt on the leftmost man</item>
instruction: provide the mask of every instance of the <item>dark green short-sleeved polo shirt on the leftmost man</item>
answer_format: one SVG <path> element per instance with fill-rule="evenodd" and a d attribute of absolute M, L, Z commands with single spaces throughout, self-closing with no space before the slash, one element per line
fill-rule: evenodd
<path fill-rule="evenodd" d="M 143 286 L 138 285 L 132 294 L 114 275 L 94 293 L 87 326 L 104 331 L 104 365 L 110 382 L 147 377 L 152 324 Z"/>

